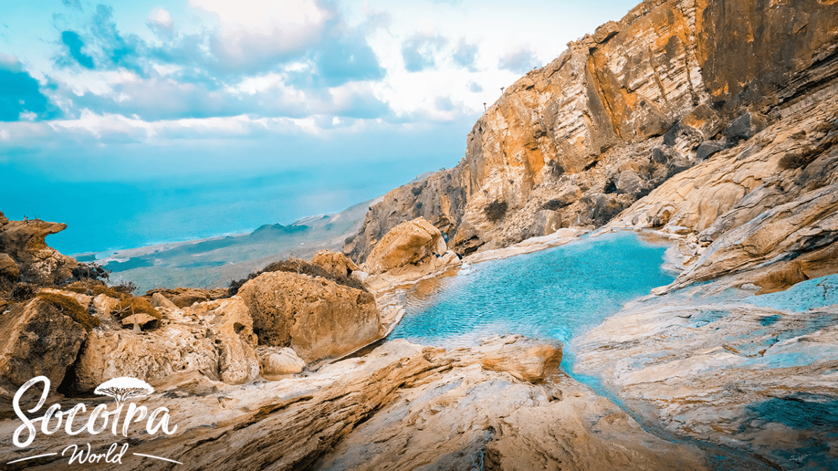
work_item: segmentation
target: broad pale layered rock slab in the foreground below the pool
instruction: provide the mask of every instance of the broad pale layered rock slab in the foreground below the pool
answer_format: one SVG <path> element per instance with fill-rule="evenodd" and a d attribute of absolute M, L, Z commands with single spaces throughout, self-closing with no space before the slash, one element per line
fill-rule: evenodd
<path fill-rule="evenodd" d="M 709 469 L 701 451 L 667 443 L 574 380 L 556 375 L 553 345 L 522 339 L 480 347 L 510 361 L 482 366 L 473 349 L 446 351 L 396 340 L 363 358 L 341 360 L 307 377 L 230 386 L 186 378 L 142 401 L 166 406 L 177 431 L 164 439 L 129 435 L 122 463 L 96 469 L 218 471 L 291 469 Z M 534 349 L 535 348 L 535 349 Z M 535 354 L 534 352 L 540 352 Z M 531 357 L 530 355 L 535 355 Z M 515 359 L 541 363 L 543 380 L 520 380 Z M 92 406 L 92 404 L 91 404 Z M 0 418 L 11 427 L 13 419 Z M 108 433 L 85 437 L 106 449 Z M 39 435 L 23 450 L 0 444 L 9 460 L 65 447 L 66 437 Z M 24 454 L 26 453 L 26 454 Z M 130 456 L 129 456 L 130 455 Z M 57 458 L 57 459 L 56 459 Z M 45 457 L 9 465 L 32 471 L 66 467 Z M 16 468 L 17 467 L 17 468 Z"/>

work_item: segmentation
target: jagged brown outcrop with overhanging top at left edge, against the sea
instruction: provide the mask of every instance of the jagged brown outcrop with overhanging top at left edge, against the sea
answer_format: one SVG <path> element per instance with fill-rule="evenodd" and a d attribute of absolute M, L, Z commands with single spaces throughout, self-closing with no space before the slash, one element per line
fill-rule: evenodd
<path fill-rule="evenodd" d="M 0 213 L 0 276 L 36 284 L 65 282 L 78 262 L 47 246 L 44 239 L 66 228 L 38 219 L 8 220 Z"/>

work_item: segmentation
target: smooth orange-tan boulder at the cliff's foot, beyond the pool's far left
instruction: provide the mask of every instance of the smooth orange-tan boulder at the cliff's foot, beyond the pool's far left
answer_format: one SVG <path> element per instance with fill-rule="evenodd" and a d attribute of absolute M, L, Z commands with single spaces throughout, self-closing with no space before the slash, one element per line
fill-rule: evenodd
<path fill-rule="evenodd" d="M 365 263 L 365 272 L 378 274 L 427 261 L 447 251 L 442 232 L 425 218 L 405 221 L 387 232 Z"/>

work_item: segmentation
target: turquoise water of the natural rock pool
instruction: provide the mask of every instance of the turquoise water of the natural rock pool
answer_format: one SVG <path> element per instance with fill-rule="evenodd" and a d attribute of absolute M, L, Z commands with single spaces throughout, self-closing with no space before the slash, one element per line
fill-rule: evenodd
<path fill-rule="evenodd" d="M 478 263 L 443 278 L 430 296 L 408 296 L 390 338 L 451 346 L 524 334 L 568 344 L 629 300 L 672 282 L 674 274 L 661 269 L 665 249 L 619 232 Z"/>

